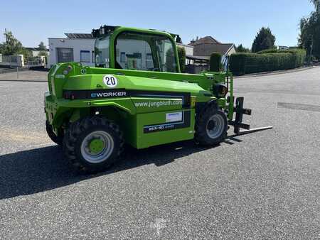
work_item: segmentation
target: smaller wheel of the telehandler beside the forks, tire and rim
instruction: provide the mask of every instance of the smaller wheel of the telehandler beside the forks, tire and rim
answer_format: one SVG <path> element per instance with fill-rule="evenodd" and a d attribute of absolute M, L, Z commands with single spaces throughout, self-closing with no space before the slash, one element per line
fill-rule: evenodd
<path fill-rule="evenodd" d="M 217 145 L 225 140 L 227 130 L 227 116 L 215 104 L 208 104 L 201 113 L 197 114 L 195 134 L 197 143 L 203 146 Z"/>

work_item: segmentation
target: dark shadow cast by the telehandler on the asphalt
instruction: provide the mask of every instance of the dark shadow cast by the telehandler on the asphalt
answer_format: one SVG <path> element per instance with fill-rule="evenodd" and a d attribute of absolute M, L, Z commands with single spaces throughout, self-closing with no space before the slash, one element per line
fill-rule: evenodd
<path fill-rule="evenodd" d="M 228 143 L 228 139 L 225 142 Z M 171 143 L 143 150 L 127 148 L 122 160 L 109 170 L 95 175 L 80 175 L 73 171 L 68 162 L 63 160 L 63 153 L 59 146 L 10 153 L 0 156 L 0 200 L 53 190 L 142 165 L 161 166 L 206 149 L 208 148 L 196 146 L 193 141 Z"/>

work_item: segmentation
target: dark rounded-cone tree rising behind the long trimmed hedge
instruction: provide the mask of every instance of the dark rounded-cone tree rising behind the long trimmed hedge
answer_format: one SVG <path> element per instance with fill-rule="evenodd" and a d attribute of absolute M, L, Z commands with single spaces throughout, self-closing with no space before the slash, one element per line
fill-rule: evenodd
<path fill-rule="evenodd" d="M 274 48 L 275 37 L 270 28 L 262 27 L 252 43 L 252 52 Z"/>

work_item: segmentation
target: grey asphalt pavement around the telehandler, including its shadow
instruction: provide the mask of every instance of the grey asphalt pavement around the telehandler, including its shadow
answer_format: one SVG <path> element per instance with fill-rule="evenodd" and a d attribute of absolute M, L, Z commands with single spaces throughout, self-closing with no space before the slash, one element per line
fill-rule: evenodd
<path fill-rule="evenodd" d="M 75 175 L 46 136 L 46 90 L 0 81 L 1 239 L 320 237 L 319 67 L 235 80 L 247 121 L 272 130 L 130 150 L 99 175 Z"/>

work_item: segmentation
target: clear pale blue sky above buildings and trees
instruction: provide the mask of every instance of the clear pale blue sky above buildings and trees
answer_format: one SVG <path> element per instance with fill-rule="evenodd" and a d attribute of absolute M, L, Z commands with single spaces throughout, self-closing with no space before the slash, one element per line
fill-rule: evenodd
<path fill-rule="evenodd" d="M 91 33 L 101 25 L 165 30 L 179 34 L 183 43 L 213 36 L 247 48 L 266 26 L 276 45 L 293 46 L 299 19 L 314 9 L 308 0 L 0 1 L 0 42 L 7 28 L 25 47 L 48 45 L 48 38 L 64 38 L 64 33 Z"/>

